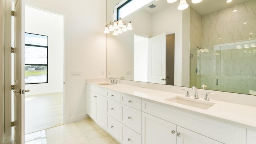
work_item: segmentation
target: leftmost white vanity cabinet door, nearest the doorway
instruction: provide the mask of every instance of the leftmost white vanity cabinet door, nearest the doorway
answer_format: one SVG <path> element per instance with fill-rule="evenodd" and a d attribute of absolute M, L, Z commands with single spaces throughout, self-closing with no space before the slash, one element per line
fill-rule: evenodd
<path fill-rule="evenodd" d="M 94 92 L 87 91 L 87 114 L 97 120 L 97 96 Z"/>

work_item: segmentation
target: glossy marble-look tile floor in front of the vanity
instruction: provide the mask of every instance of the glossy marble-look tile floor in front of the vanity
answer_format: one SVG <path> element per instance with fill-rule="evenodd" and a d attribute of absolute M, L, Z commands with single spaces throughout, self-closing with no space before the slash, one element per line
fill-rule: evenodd
<path fill-rule="evenodd" d="M 92 119 L 25 135 L 25 144 L 119 144 Z"/>

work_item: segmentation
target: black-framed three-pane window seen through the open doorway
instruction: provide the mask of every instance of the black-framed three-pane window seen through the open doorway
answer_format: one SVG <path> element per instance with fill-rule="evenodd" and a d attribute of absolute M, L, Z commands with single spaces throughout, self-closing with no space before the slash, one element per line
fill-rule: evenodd
<path fill-rule="evenodd" d="M 48 82 L 48 36 L 25 33 L 25 84 Z"/>

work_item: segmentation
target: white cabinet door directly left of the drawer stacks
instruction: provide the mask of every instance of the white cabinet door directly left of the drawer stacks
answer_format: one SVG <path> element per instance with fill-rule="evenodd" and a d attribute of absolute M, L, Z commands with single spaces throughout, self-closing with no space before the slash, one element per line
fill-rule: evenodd
<path fill-rule="evenodd" d="M 97 96 L 97 123 L 103 129 L 106 129 L 106 98 L 104 96 Z"/>

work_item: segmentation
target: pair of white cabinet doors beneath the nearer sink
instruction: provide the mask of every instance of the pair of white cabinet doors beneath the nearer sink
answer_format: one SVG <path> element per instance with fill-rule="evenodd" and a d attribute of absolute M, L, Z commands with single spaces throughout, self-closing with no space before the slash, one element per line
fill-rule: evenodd
<path fill-rule="evenodd" d="M 142 144 L 223 144 L 142 112 Z"/>

